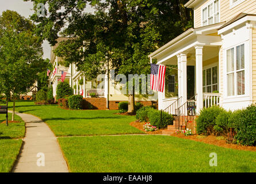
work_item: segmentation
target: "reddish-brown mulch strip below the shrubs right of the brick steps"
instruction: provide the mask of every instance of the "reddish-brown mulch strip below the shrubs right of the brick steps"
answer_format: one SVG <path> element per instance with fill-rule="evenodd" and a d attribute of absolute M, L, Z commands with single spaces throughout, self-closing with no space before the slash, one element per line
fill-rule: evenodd
<path fill-rule="evenodd" d="M 216 137 L 216 136 L 213 136 L 213 135 L 209 135 L 209 136 L 204 137 L 204 136 L 198 136 L 198 135 L 185 136 L 182 133 L 178 133 L 178 134 L 174 133 L 171 136 L 182 138 L 182 139 L 194 140 L 194 141 L 207 143 L 207 144 L 213 144 L 213 145 L 217 145 L 219 147 L 231 148 L 231 149 L 234 149 L 234 150 L 256 151 L 256 147 L 254 147 L 254 146 L 228 144 L 228 143 L 226 143 L 226 140 L 220 139 L 220 137 Z"/>

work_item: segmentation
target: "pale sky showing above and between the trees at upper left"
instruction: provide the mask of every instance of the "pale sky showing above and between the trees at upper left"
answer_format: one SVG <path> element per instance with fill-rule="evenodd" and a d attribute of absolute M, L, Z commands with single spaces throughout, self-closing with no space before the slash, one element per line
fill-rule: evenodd
<path fill-rule="evenodd" d="M 23 0 L 0 0 L 0 14 L 5 10 L 17 11 L 21 16 L 29 18 L 33 14 L 33 3 L 31 1 L 24 2 Z M 91 7 L 88 7 L 85 11 L 92 12 L 93 10 Z M 43 50 L 44 59 L 50 59 L 51 47 L 48 41 L 44 41 Z"/>

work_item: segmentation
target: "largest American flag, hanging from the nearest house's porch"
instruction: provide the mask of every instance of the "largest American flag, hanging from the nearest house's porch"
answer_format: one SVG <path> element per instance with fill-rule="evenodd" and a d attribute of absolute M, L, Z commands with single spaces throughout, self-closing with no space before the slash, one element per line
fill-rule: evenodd
<path fill-rule="evenodd" d="M 166 66 L 151 64 L 151 89 L 163 93 Z"/>

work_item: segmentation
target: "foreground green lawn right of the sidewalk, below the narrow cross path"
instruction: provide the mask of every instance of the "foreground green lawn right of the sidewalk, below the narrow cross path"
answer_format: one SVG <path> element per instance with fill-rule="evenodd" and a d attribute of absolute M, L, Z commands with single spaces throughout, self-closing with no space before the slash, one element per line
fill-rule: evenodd
<path fill-rule="evenodd" d="M 58 139 L 71 172 L 256 172 L 256 152 L 171 136 L 93 136 Z M 217 154 L 217 167 L 209 154 Z"/>

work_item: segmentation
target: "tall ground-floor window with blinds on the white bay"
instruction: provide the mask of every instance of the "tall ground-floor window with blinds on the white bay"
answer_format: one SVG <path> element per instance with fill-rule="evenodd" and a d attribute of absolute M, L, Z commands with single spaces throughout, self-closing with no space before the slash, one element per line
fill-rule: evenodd
<path fill-rule="evenodd" d="M 244 44 L 227 50 L 227 95 L 245 94 Z"/>

